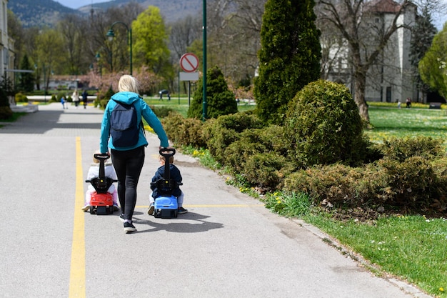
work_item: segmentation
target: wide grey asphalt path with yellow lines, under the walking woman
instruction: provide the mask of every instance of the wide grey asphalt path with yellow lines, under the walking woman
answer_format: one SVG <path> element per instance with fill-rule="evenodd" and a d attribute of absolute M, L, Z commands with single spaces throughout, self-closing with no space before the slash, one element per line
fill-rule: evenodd
<path fill-rule="evenodd" d="M 102 111 L 39 106 L 0 128 L 0 297 L 429 297 L 376 277 L 303 222 L 278 217 L 176 154 L 184 207 L 146 212 L 159 140 L 149 146 L 134 224 L 81 211 Z"/>

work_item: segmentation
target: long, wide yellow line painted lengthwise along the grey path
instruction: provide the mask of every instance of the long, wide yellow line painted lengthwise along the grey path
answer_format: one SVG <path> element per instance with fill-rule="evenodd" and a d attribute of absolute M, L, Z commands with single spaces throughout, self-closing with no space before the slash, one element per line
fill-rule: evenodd
<path fill-rule="evenodd" d="M 76 198 L 74 203 L 73 240 L 71 243 L 69 297 L 86 297 L 86 247 L 84 237 L 84 174 L 81 138 L 76 136 Z"/>

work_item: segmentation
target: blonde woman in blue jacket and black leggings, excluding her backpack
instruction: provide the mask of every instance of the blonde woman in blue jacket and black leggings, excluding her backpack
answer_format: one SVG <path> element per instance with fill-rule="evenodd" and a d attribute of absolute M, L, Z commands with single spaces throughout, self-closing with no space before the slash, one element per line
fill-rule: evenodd
<path fill-rule="evenodd" d="M 116 101 L 122 104 L 134 105 L 136 110 L 136 123 L 141 123 L 141 116 L 154 129 L 160 139 L 160 147 L 168 147 L 168 137 L 151 108 L 138 94 L 138 81 L 133 76 L 124 75 L 119 79 L 118 93 L 111 96 L 104 111 L 101 124 L 101 141 L 99 148 L 101 153 L 108 153 L 110 148 L 111 162 L 114 164 L 116 176 L 118 177 L 118 198 L 121 204 L 121 221 L 124 222 L 124 232 L 135 232 L 136 228 L 132 224 L 136 204 L 136 186 L 139 181 L 141 169 L 144 164 L 144 147 L 148 145 L 144 136 L 144 128 L 139 130 L 138 141 L 132 146 L 115 146 L 113 138 L 110 136 L 111 115 L 117 105 Z"/>

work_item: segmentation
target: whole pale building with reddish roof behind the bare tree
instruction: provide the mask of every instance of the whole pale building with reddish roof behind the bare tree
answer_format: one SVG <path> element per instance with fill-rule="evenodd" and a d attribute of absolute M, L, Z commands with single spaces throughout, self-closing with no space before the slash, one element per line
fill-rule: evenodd
<path fill-rule="evenodd" d="M 368 47 L 375 49 L 377 39 L 368 36 L 381 34 L 393 22 L 400 4 L 393 0 L 373 0 L 363 6 L 361 22 L 366 32 L 363 32 L 361 46 L 368 53 Z M 396 26 L 399 27 L 390 37 L 382 53 L 376 58 L 366 76 L 366 101 L 405 102 L 406 98 L 413 101 L 419 99 L 418 91 L 413 84 L 413 74 L 417 69 L 411 65 L 410 44 L 411 30 L 404 26 L 416 24 L 417 8 L 409 4 L 398 16 Z M 368 30 L 371 30 L 369 35 Z M 346 84 L 353 91 L 353 79 L 348 43 L 334 32 L 323 32 L 321 41 L 323 51 L 323 79 Z M 325 57 L 326 51 L 326 60 Z M 363 54 L 363 53 L 362 53 Z M 426 99 L 419 99 L 425 101 Z"/>

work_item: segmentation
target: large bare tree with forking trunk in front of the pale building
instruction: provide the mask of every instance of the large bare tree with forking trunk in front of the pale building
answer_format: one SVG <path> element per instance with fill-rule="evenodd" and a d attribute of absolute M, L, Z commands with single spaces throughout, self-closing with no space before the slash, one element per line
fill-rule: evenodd
<path fill-rule="evenodd" d="M 435 0 L 437 1 L 437 0 Z M 353 94 L 361 117 L 369 122 L 365 99 L 366 77 L 378 64 L 393 34 L 411 28 L 402 16 L 417 6 L 409 0 L 318 0 L 316 14 L 346 40 L 352 69 Z M 388 21 L 384 15 L 391 16 Z M 383 55 L 384 57 L 385 55 Z"/>

